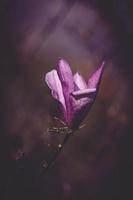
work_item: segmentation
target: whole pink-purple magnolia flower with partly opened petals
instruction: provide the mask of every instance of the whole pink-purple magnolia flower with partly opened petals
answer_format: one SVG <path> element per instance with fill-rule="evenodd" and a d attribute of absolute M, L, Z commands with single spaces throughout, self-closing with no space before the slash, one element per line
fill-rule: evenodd
<path fill-rule="evenodd" d="M 103 74 L 104 62 L 88 81 L 79 74 L 72 74 L 69 64 L 60 59 L 57 69 L 45 76 L 45 81 L 51 89 L 52 96 L 60 102 L 63 121 L 77 129 L 89 112 Z"/>

